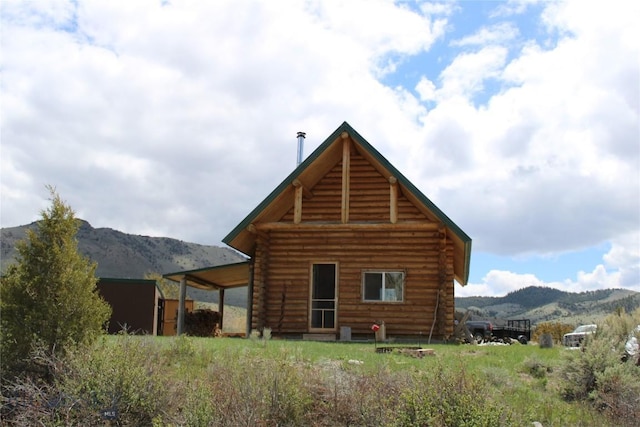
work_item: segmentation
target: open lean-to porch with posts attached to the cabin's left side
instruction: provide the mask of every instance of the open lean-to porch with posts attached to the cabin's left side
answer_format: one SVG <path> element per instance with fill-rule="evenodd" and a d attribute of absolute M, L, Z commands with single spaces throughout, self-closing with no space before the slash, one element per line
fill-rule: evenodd
<path fill-rule="evenodd" d="M 218 291 L 218 311 L 220 313 L 220 329 L 224 324 L 224 293 L 226 289 L 249 286 L 251 278 L 251 261 L 243 261 L 234 264 L 217 265 L 205 267 L 197 270 L 178 271 L 167 273 L 162 277 L 180 283 L 180 294 L 178 302 L 178 322 L 177 335 L 184 332 L 185 299 L 187 296 L 187 286 L 208 291 Z M 247 330 L 249 336 L 251 324 L 251 300 L 248 300 L 247 307 Z"/>

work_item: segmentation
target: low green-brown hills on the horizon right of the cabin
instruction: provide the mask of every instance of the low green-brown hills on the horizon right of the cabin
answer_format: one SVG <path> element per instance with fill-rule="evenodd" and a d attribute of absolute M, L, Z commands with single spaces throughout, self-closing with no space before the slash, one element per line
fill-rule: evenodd
<path fill-rule="evenodd" d="M 504 297 L 460 297 L 456 310 L 469 310 L 474 319 L 531 319 L 532 323 L 557 321 L 593 323 L 618 309 L 630 313 L 640 307 L 640 293 L 627 289 L 565 292 L 530 286 Z"/>

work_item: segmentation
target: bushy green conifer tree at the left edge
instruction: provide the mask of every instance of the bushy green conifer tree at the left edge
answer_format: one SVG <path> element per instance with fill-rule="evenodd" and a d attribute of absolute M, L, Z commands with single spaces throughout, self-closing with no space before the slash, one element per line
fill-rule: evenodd
<path fill-rule="evenodd" d="M 111 307 L 97 293 L 96 264 L 78 252 L 80 222 L 55 189 L 35 230 L 18 242 L 0 286 L 0 350 L 5 369 L 33 366 L 32 351 L 64 355 L 103 331 Z"/>

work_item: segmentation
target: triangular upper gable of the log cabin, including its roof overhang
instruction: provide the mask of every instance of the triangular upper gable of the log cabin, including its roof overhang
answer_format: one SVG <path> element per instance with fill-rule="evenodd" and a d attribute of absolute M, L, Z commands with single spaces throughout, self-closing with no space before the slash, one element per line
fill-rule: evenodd
<path fill-rule="evenodd" d="M 258 205 L 223 242 L 249 256 L 256 236 L 282 227 L 444 229 L 454 275 L 465 285 L 471 239 L 347 122 Z"/>

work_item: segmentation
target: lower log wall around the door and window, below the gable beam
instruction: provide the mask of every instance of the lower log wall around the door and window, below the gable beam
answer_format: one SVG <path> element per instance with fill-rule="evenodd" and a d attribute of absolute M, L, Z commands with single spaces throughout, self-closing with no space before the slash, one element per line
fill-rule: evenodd
<path fill-rule="evenodd" d="M 378 231 L 375 226 L 356 230 L 343 226 L 326 233 L 275 228 L 269 231 L 268 248 L 268 263 L 260 259 L 264 251 L 256 252 L 255 262 L 261 268 L 256 269 L 255 281 L 264 284 L 260 287 L 264 305 L 262 313 L 254 313 L 254 327 L 268 326 L 283 334 L 306 332 L 311 266 L 337 262 L 337 330 L 350 326 L 354 334 L 367 334 L 374 321 L 384 321 L 388 334 L 426 337 L 439 298 L 434 337 L 453 332 L 453 248 L 451 242 L 443 243 L 438 232 L 402 227 Z M 443 270 L 441 262 L 445 262 Z M 404 301 L 364 302 L 364 270 L 404 271 Z"/>

